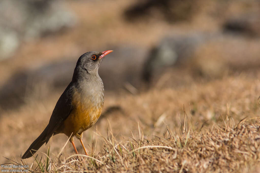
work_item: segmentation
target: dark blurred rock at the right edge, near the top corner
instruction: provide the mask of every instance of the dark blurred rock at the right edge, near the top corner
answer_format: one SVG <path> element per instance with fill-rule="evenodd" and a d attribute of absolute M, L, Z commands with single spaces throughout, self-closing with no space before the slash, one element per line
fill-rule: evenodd
<path fill-rule="evenodd" d="M 224 32 L 259 37 L 260 12 L 231 17 L 224 23 L 223 29 Z"/>

